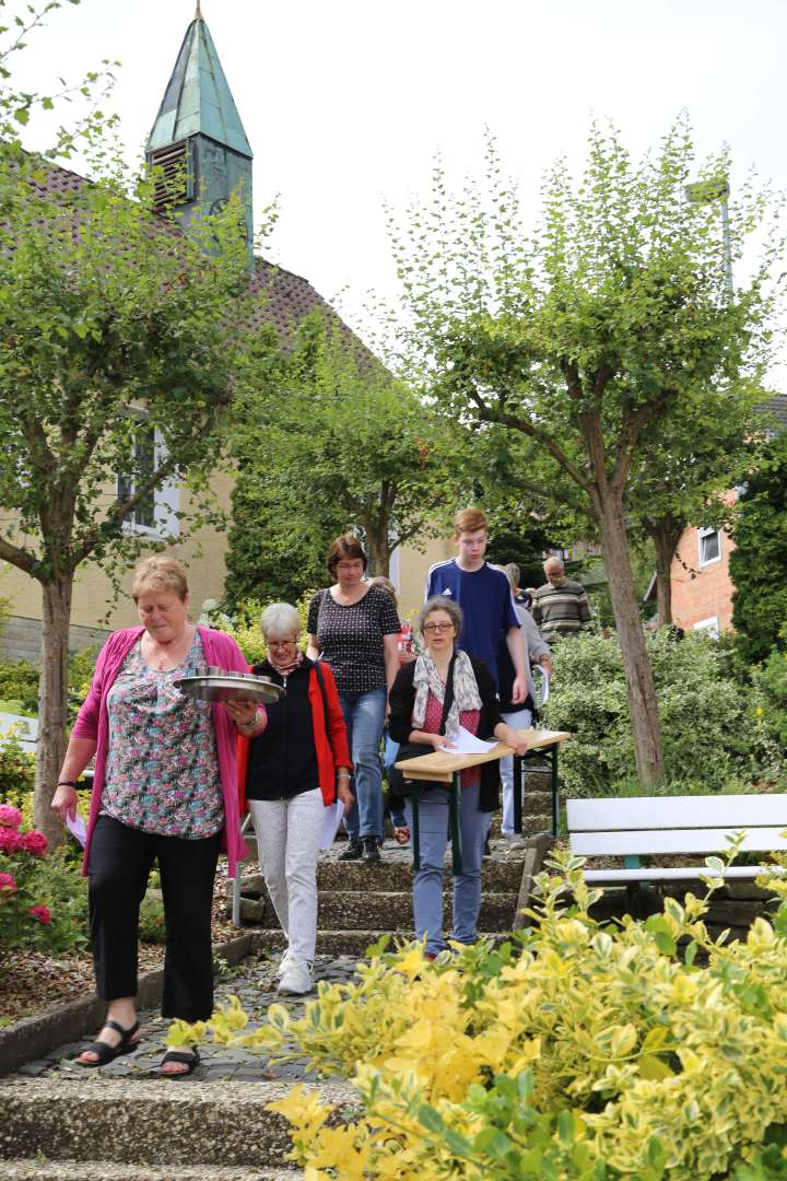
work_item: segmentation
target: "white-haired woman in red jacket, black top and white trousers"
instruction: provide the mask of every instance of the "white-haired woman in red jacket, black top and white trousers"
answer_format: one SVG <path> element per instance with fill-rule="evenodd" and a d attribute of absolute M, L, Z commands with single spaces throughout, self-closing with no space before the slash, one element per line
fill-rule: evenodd
<path fill-rule="evenodd" d="M 258 737 L 238 738 L 241 810 L 245 797 L 265 886 L 288 940 L 278 991 L 300 996 L 314 987 L 324 809 L 339 798 L 349 810 L 353 763 L 336 683 L 328 665 L 315 665 L 301 652 L 295 607 L 273 603 L 260 626 L 268 657 L 253 671 L 287 692 L 268 706 L 268 724 Z"/>

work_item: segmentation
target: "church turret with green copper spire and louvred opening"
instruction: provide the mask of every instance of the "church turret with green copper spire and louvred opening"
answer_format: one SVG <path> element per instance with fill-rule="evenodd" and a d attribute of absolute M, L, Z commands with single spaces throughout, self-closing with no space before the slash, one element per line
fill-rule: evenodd
<path fill-rule="evenodd" d="M 240 193 L 251 260 L 251 148 L 199 2 L 183 38 L 145 157 L 151 167 L 162 169 L 157 200 L 175 202 L 184 229 L 196 214 L 216 213 L 231 194 Z"/>

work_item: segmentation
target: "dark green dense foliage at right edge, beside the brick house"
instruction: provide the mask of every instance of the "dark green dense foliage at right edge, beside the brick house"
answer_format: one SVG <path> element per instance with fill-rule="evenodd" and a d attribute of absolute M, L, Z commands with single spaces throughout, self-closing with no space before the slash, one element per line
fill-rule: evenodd
<path fill-rule="evenodd" d="M 729 555 L 733 625 L 746 666 L 787 650 L 787 435 L 773 438 L 739 500 Z"/>

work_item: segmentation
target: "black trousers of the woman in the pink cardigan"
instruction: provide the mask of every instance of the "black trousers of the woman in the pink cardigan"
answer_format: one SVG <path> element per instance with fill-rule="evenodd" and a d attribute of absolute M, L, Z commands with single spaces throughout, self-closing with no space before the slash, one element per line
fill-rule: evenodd
<path fill-rule="evenodd" d="M 162 875 L 166 952 L 163 1017 L 206 1020 L 214 1009 L 210 915 L 219 834 L 196 841 L 158 836 L 99 816 L 90 850 L 90 932 L 96 991 L 136 997 L 139 905 L 156 857 Z"/>

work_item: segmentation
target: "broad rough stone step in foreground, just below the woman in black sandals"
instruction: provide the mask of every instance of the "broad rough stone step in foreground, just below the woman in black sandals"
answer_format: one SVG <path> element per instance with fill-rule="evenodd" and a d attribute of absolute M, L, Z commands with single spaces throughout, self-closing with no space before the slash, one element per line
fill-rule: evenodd
<path fill-rule="evenodd" d="M 179 1176 L 175 1170 L 183 1169 L 185 1161 L 192 1169 L 223 1168 L 227 1179 L 232 1176 L 227 1170 L 237 1167 L 249 1176 L 261 1176 L 253 1169 L 263 1170 L 262 1176 L 271 1169 L 290 1169 L 291 1176 L 289 1124 L 265 1110 L 290 1085 L 81 1076 L 1 1081 L 0 1160 L 29 1161 L 40 1155 L 53 1176 L 58 1175 L 53 1162 L 63 1168 L 72 1161 L 92 1168 L 96 1161 L 146 1167 L 147 1176 L 173 1181 Z M 356 1092 L 349 1084 L 321 1083 L 315 1090 L 341 1107 L 342 1117 L 358 1114 Z M 347 1114 L 353 1107 L 354 1113 Z M 163 1172 L 151 1174 L 151 1167 Z M 0 1175 L 8 1176 L 5 1166 Z M 41 1167 L 37 1176 L 45 1175 Z M 201 1169 L 198 1175 L 209 1174 Z"/>

